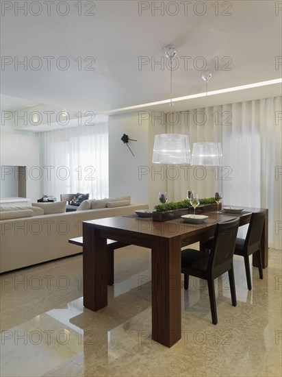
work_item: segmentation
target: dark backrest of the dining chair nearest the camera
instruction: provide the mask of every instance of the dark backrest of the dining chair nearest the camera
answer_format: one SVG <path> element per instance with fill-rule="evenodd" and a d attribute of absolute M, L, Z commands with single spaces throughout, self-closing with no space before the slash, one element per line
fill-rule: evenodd
<path fill-rule="evenodd" d="M 209 271 L 213 271 L 215 277 L 231 269 L 239 222 L 239 217 L 236 217 L 231 221 L 218 223 L 216 226 L 207 267 Z"/>

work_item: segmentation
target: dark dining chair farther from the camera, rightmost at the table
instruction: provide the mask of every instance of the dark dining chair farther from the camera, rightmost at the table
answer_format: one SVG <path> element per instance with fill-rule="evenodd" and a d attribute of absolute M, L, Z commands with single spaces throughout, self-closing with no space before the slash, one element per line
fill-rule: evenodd
<path fill-rule="evenodd" d="M 235 255 L 240 255 L 244 257 L 245 270 L 246 270 L 246 280 L 248 290 L 252 289 L 251 282 L 251 269 L 250 269 L 250 259 L 251 254 L 256 254 L 257 265 L 259 267 L 259 278 L 264 278 L 264 273 L 262 271 L 261 263 L 261 233 L 264 228 L 264 220 L 266 217 L 266 211 L 260 210 L 259 212 L 253 212 L 251 216 L 251 221 L 248 226 L 248 232 L 246 234 L 246 239 L 236 239 L 235 243 Z"/>

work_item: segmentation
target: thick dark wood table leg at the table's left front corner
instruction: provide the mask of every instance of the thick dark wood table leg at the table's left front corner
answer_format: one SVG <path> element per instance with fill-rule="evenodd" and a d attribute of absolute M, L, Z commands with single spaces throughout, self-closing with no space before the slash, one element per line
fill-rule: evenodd
<path fill-rule="evenodd" d="M 92 311 L 107 306 L 107 240 L 93 224 L 83 223 L 84 306 Z"/>

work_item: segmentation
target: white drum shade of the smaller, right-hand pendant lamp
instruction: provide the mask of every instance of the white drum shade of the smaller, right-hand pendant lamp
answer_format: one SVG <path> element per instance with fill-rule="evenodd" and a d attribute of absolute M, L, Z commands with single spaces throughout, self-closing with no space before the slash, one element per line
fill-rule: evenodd
<path fill-rule="evenodd" d="M 192 165 L 222 166 L 221 143 L 194 143 L 192 150 Z"/>

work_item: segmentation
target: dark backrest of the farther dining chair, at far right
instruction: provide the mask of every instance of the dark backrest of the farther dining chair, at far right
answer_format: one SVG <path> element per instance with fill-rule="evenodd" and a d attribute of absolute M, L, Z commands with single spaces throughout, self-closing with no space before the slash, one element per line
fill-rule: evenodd
<path fill-rule="evenodd" d="M 261 233 L 262 229 L 264 228 L 265 217 L 265 210 L 252 213 L 244 243 L 244 248 L 247 248 L 249 252 L 257 252 L 257 250 L 259 250 L 259 243 L 261 241 Z"/>

